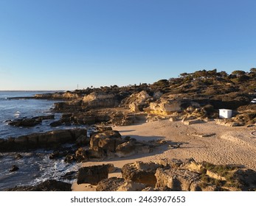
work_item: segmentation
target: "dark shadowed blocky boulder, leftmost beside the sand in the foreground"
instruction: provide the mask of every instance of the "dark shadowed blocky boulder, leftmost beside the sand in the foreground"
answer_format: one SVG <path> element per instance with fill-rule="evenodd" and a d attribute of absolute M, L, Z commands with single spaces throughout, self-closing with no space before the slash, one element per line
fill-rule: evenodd
<path fill-rule="evenodd" d="M 108 167 L 108 165 L 103 165 L 80 168 L 77 175 L 77 184 L 97 185 L 101 180 L 108 178 Z"/>

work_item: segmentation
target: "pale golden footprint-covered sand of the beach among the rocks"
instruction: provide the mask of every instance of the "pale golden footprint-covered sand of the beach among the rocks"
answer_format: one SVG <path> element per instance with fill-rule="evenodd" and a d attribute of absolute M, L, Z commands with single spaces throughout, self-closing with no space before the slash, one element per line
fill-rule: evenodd
<path fill-rule="evenodd" d="M 131 136 L 139 141 L 163 139 L 168 143 L 182 142 L 179 149 L 170 149 L 168 143 L 156 148 L 150 154 L 137 154 L 131 157 L 114 158 L 102 162 L 83 163 L 83 166 L 94 166 L 113 163 L 117 171 L 109 177 L 122 177 L 120 168 L 126 163 L 136 161 L 156 161 L 162 158 L 186 159 L 193 157 L 196 161 L 207 161 L 214 164 L 239 164 L 256 170 L 256 136 L 252 132 L 256 127 L 225 127 L 210 121 L 204 124 L 184 125 L 182 122 L 168 120 L 153 121 L 144 124 L 114 127 L 122 136 Z M 200 138 L 193 133 L 215 133 L 211 137 Z M 72 186 L 73 191 L 95 191 L 90 185 Z"/>

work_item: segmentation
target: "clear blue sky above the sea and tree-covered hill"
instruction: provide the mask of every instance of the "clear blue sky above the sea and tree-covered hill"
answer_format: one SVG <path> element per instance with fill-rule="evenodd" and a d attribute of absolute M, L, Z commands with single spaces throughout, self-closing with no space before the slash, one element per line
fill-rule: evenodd
<path fill-rule="evenodd" d="M 256 67 L 255 0 L 1 0 L 0 90 Z"/>

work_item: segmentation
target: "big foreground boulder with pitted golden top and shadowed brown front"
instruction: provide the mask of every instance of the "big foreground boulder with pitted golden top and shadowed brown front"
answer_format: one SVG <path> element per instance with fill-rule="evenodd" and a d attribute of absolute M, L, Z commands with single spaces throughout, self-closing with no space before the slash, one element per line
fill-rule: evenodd
<path fill-rule="evenodd" d="M 129 163 L 122 167 L 122 177 L 127 182 L 132 181 L 154 187 L 156 185 L 156 169 L 161 167 L 156 163 Z"/>

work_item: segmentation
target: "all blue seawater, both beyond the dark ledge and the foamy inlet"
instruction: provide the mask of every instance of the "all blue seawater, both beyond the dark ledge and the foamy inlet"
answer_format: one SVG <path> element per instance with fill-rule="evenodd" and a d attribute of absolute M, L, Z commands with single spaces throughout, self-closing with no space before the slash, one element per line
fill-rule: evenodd
<path fill-rule="evenodd" d="M 18 137 L 33 132 L 46 132 L 53 129 L 67 129 L 67 127 L 51 128 L 49 124 L 60 118 L 55 114 L 55 120 L 45 120 L 42 124 L 32 127 L 13 127 L 7 121 L 17 118 L 31 118 L 52 114 L 54 101 L 43 99 L 8 99 L 10 97 L 28 97 L 36 93 L 49 93 L 40 91 L 0 91 L 0 138 Z M 63 160 L 49 160 L 52 151 L 38 149 L 32 152 L 4 152 L 0 153 L 0 191 L 21 185 L 35 185 L 45 180 L 60 180 L 69 171 L 77 171 L 79 165 L 66 164 Z M 15 156 L 21 154 L 23 158 L 16 160 Z M 15 165 L 18 171 L 10 172 Z"/>

